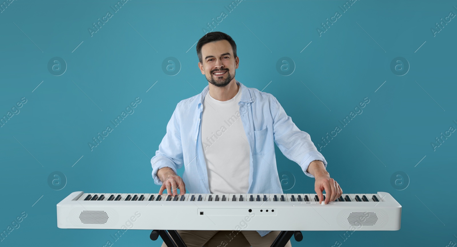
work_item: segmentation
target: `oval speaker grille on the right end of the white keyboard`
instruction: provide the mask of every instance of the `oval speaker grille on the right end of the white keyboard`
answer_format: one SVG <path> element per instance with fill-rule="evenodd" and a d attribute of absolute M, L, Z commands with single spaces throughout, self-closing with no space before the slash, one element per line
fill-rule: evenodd
<path fill-rule="evenodd" d="M 344 229 L 380 229 L 387 225 L 389 216 L 383 209 L 344 209 L 336 221 Z"/>

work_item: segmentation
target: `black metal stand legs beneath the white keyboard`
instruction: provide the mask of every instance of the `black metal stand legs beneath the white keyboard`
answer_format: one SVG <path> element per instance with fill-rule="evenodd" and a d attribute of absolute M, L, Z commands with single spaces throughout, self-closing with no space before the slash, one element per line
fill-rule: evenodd
<path fill-rule="evenodd" d="M 303 239 L 301 231 L 281 231 L 276 237 L 275 241 L 271 244 L 271 247 L 284 247 L 286 246 L 289 239 L 295 237 L 295 241 L 300 242 Z M 187 247 L 184 241 L 182 241 L 181 236 L 176 230 L 154 230 L 151 232 L 149 238 L 151 240 L 157 240 L 158 237 L 161 237 L 162 240 L 168 247 Z"/>

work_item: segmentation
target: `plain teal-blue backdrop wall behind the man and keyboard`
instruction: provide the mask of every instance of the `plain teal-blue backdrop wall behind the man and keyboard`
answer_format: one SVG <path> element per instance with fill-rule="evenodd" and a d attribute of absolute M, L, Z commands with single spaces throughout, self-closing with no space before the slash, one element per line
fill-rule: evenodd
<path fill-rule="evenodd" d="M 176 104 L 208 85 L 195 43 L 222 11 L 227 16 L 213 31 L 238 45 L 236 79 L 273 94 L 316 146 L 370 99 L 321 153 L 344 193 L 388 192 L 402 205 L 399 231 L 356 231 L 346 241 L 340 231 L 303 232 L 292 246 L 457 242 L 457 132 L 435 151 L 430 144 L 457 128 L 457 19 L 436 37 L 430 31 L 457 13 L 457 1 L 358 0 L 343 13 L 344 3 L 243 0 L 228 12 L 228 0 L 129 0 L 91 37 L 88 28 L 115 0 L 13 1 L 0 13 L 0 116 L 22 97 L 27 103 L 0 128 L 0 230 L 23 211 L 27 217 L 0 246 L 102 247 L 115 230 L 59 229 L 56 204 L 74 191 L 159 190 L 150 158 Z M 335 11 L 341 17 L 319 37 L 316 28 Z M 63 75 L 48 71 L 53 57 L 66 61 Z M 162 70 L 167 57 L 180 61 L 177 75 Z M 291 75 L 276 70 L 281 57 L 294 61 Z M 406 75 L 393 74 L 395 57 L 409 61 Z M 91 151 L 92 138 L 137 97 L 134 113 Z M 278 171 L 294 174 L 285 193 L 314 193 L 313 178 L 277 148 L 276 157 Z M 61 190 L 48 185 L 54 171 L 67 178 Z M 404 190 L 390 182 L 398 171 L 409 177 Z M 113 246 L 160 246 L 149 234 L 127 231 Z"/>

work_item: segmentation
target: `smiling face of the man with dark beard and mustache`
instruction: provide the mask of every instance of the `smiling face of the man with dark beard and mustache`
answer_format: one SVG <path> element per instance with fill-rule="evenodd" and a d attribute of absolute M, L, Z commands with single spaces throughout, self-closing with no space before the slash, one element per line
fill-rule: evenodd
<path fill-rule="evenodd" d="M 224 87 L 235 80 L 235 69 L 239 59 L 234 58 L 233 50 L 227 40 L 213 41 L 202 46 L 202 63 L 198 67 L 206 80 L 214 86 Z M 224 73 L 216 75 L 215 73 Z"/>

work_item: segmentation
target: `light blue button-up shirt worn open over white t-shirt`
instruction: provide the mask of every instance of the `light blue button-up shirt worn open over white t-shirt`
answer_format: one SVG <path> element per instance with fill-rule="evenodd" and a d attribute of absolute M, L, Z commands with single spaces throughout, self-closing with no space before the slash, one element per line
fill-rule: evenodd
<path fill-rule="evenodd" d="M 235 80 L 236 81 L 236 80 Z M 241 121 L 250 145 L 250 174 L 247 193 L 283 193 L 276 167 L 275 145 L 284 156 L 300 165 L 309 176 L 309 164 L 327 161 L 317 150 L 308 133 L 301 131 L 292 118 L 270 93 L 246 87 L 239 81 L 241 98 L 238 102 Z M 181 100 L 167 124 L 167 133 L 159 150 L 151 159 L 154 183 L 162 185 L 157 170 L 168 166 L 177 174 L 184 164 L 182 179 L 188 193 L 210 193 L 208 175 L 202 148 L 203 99 L 209 90 Z M 234 154 L 236 155 L 236 154 Z M 265 236 L 270 231 L 257 231 Z"/>

